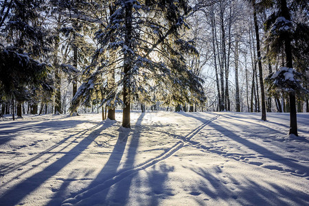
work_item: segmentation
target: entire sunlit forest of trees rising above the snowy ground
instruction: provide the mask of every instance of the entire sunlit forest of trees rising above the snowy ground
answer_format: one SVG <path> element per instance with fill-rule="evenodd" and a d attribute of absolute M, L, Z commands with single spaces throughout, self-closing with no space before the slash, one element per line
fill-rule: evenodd
<path fill-rule="evenodd" d="M 306 1 L 0 6 L 1 115 L 309 111 Z"/>

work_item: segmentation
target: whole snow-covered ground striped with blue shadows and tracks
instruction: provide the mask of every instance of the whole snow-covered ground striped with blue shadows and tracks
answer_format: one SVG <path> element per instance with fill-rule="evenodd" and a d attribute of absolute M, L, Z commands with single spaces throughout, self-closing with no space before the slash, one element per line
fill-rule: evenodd
<path fill-rule="evenodd" d="M 0 205 L 309 205 L 309 113 L 0 121 Z M 122 114 L 116 114 L 117 120 Z"/>

